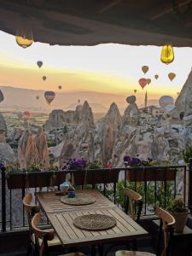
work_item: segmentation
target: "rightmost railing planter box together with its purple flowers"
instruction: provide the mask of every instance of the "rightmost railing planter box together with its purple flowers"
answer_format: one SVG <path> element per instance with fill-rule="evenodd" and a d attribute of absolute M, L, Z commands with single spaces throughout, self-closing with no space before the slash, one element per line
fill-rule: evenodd
<path fill-rule="evenodd" d="M 157 162 L 148 158 L 140 160 L 138 157 L 125 155 L 126 179 L 130 182 L 143 181 L 171 181 L 175 180 L 177 170 L 168 166 L 157 166 Z M 155 168 L 154 168 L 155 166 Z"/>

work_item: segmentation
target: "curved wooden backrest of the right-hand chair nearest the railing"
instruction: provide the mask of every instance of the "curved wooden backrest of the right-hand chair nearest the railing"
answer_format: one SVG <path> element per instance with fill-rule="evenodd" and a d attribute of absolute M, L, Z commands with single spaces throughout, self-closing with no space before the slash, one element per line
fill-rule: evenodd
<path fill-rule="evenodd" d="M 125 212 L 128 213 L 130 209 L 131 218 L 139 222 L 143 207 L 142 195 L 139 195 L 136 191 L 124 188 L 123 193 L 125 195 Z M 136 208 L 137 207 L 137 212 Z"/>

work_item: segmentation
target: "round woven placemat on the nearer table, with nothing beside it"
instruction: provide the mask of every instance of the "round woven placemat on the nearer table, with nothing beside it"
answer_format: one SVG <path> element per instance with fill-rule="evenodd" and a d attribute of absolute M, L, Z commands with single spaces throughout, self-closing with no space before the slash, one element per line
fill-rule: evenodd
<path fill-rule="evenodd" d="M 81 230 L 98 231 L 112 229 L 117 221 L 108 215 L 89 214 L 75 218 L 73 224 Z"/>

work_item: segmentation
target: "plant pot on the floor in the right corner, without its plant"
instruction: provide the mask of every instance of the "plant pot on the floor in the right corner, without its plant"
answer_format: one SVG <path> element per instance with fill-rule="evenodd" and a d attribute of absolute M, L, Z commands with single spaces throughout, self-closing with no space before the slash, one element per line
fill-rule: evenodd
<path fill-rule="evenodd" d="M 188 219 L 188 210 L 186 212 L 170 212 L 172 216 L 175 218 L 175 232 L 176 233 L 183 233 L 184 227 L 187 223 Z"/>

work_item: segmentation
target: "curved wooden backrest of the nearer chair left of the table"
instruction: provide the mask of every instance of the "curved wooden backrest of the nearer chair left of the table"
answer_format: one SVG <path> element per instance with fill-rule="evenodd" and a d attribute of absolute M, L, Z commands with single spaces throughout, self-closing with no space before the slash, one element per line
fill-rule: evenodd
<path fill-rule="evenodd" d="M 48 241 L 51 241 L 54 239 L 54 233 L 47 231 L 47 230 L 40 230 L 38 228 L 38 224 L 41 221 L 41 214 L 38 212 L 32 217 L 32 231 L 35 234 L 36 241 L 38 239 L 42 239 L 41 244 L 38 244 L 38 255 L 39 256 L 45 256 L 48 255 Z"/>

